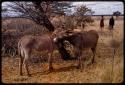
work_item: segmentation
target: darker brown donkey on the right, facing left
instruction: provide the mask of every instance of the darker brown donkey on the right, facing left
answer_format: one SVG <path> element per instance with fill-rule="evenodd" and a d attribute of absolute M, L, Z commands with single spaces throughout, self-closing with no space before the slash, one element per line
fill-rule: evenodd
<path fill-rule="evenodd" d="M 81 68 L 82 64 L 80 56 L 82 55 L 82 50 L 85 50 L 85 48 L 91 48 L 93 52 L 92 63 L 94 63 L 94 56 L 98 38 L 99 35 L 95 30 L 84 31 L 84 32 L 65 31 L 63 34 L 54 38 L 54 42 L 57 43 L 64 40 L 69 41 L 77 51 L 76 52 L 78 58 L 77 68 Z"/>

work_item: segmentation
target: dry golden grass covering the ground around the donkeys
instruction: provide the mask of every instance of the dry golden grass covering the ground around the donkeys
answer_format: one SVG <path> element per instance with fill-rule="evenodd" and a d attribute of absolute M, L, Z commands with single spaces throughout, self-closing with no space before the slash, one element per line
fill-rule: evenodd
<path fill-rule="evenodd" d="M 113 39 L 123 40 L 123 19 L 115 22 Z M 90 64 L 92 52 L 86 50 L 83 55 L 84 68 L 76 69 L 77 62 L 55 60 L 53 63 L 54 70 L 48 73 L 48 63 L 30 63 L 31 77 L 18 75 L 19 58 L 2 57 L 2 82 L 3 83 L 121 83 L 123 82 L 123 42 L 114 56 L 113 75 L 111 75 L 113 49 L 110 47 L 112 37 L 108 31 L 108 20 L 105 20 L 103 32 L 99 29 L 99 20 L 96 19 L 93 25 L 88 25 L 85 30 L 97 30 L 99 41 L 94 64 Z M 55 52 L 54 55 L 58 55 Z M 26 75 L 24 73 L 24 75 Z"/>

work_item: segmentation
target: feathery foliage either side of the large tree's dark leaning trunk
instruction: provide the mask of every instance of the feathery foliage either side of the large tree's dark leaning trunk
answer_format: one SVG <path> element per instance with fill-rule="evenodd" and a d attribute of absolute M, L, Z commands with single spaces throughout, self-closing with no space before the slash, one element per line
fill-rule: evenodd
<path fill-rule="evenodd" d="M 11 8 L 11 11 L 21 13 L 21 16 L 32 18 L 35 17 L 37 14 L 40 14 L 39 11 L 36 10 L 34 2 L 11 3 L 12 4 L 8 4 L 8 7 Z M 72 7 L 71 2 L 41 1 L 39 3 L 41 5 L 41 8 L 43 8 L 43 12 L 47 14 L 48 17 L 50 17 L 52 13 L 65 14 L 65 12 Z"/>

